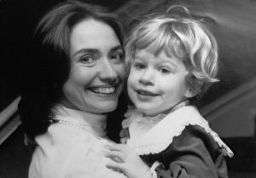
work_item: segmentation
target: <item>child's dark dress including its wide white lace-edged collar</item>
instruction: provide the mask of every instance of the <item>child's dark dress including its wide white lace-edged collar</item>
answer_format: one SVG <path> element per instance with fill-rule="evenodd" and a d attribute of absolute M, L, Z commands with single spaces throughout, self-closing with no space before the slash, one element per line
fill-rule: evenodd
<path fill-rule="evenodd" d="M 195 106 L 182 106 L 154 118 L 129 111 L 123 122 L 131 146 L 163 178 L 227 178 L 224 156 L 230 148 L 210 129 Z M 160 165 L 161 164 L 161 165 Z M 159 166 L 160 165 L 160 166 Z"/>

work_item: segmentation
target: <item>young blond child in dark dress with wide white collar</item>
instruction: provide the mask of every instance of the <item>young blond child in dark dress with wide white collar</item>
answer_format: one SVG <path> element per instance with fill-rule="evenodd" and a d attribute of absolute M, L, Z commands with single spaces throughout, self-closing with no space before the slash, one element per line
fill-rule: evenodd
<path fill-rule="evenodd" d="M 151 15 L 131 32 L 125 52 L 135 108 L 123 122 L 127 146 L 108 146 L 108 168 L 129 178 L 228 177 L 224 156 L 233 152 L 189 105 L 218 81 L 212 33 L 189 16 Z"/>

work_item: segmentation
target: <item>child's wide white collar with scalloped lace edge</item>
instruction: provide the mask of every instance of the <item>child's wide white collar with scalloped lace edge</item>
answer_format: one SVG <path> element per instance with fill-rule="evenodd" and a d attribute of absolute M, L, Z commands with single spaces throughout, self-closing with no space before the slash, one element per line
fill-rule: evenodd
<path fill-rule="evenodd" d="M 126 114 L 127 115 L 127 114 Z M 129 117 L 125 119 L 124 126 L 129 126 L 131 138 L 127 141 L 127 145 L 131 146 L 139 155 L 147 155 L 150 153 L 159 153 L 164 151 L 167 146 L 172 143 L 175 136 L 181 135 L 183 129 L 188 125 L 199 125 L 212 135 L 213 139 L 222 148 L 225 156 L 232 157 L 233 152 L 218 137 L 218 134 L 212 131 L 207 120 L 201 117 L 195 106 L 182 106 L 173 112 L 167 114 L 164 118 L 160 117 L 160 122 L 154 127 L 148 129 L 143 135 L 134 136 L 133 132 L 142 127 L 142 124 L 136 122 L 141 115 L 136 110 L 128 112 Z"/>

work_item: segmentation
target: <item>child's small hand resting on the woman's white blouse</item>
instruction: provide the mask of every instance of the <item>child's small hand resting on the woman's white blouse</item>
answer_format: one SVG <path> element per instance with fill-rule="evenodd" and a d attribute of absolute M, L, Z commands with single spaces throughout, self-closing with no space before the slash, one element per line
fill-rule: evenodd
<path fill-rule="evenodd" d="M 151 177 L 151 172 L 147 164 L 129 146 L 113 144 L 107 146 L 109 152 L 106 157 L 111 158 L 107 165 L 109 169 L 114 169 L 124 173 L 128 178 Z"/>

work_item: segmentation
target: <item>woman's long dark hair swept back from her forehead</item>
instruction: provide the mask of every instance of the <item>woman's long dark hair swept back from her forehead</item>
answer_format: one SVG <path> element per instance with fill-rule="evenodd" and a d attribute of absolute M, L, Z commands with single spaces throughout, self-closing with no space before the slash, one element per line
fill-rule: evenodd
<path fill-rule="evenodd" d="M 102 7 L 66 1 L 55 6 L 35 30 L 29 63 L 19 103 L 20 118 L 30 138 L 46 131 L 52 106 L 60 102 L 62 86 L 70 71 L 69 38 L 73 26 L 86 19 L 108 24 L 123 44 L 124 32 L 119 19 Z"/>

